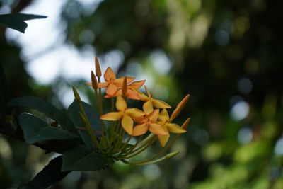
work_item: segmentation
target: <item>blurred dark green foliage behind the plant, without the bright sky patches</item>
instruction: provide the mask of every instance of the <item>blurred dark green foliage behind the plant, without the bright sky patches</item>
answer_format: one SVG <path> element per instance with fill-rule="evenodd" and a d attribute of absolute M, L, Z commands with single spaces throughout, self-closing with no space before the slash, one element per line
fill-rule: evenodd
<path fill-rule="evenodd" d="M 31 2 L 19 1 L 12 11 Z M 120 50 L 125 58 L 119 71 L 139 62 L 155 76 L 156 86 L 169 91 L 167 102 L 173 106 L 190 93 L 178 120 L 181 124 L 190 116 L 192 121 L 173 146 L 181 151 L 173 159 L 154 166 L 117 163 L 104 171 L 71 173 L 53 188 L 283 188 L 282 155 L 275 154 L 283 128 L 280 11 L 277 1 L 263 0 L 105 0 L 86 13 L 79 1 L 66 1 L 61 15 L 67 23 L 66 42 L 79 49 L 93 45 L 97 55 Z M 52 86 L 28 85 L 32 79 L 23 67 L 21 49 L 6 43 L 5 30 L 0 27 L 0 62 L 11 97 L 58 100 Z M 86 30 L 94 40 L 80 40 Z M 217 41 L 219 30 L 228 43 Z M 169 74 L 153 69 L 150 56 L 156 50 L 173 60 Z M 238 91 L 241 78 L 252 82 L 250 93 Z M 81 90 L 93 96 L 88 88 Z M 231 118 L 233 96 L 241 96 L 250 107 L 243 120 Z M 61 106 L 59 100 L 55 106 Z M 244 144 L 238 140 L 243 128 L 252 134 Z M 4 134 L 0 148 L 1 187 L 30 181 L 50 160 L 41 149 Z"/>

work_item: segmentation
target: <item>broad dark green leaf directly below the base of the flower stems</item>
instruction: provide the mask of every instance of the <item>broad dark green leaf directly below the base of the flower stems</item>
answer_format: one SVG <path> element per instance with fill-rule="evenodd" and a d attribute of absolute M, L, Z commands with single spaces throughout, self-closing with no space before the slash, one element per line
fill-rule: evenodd
<path fill-rule="evenodd" d="M 107 164 L 107 160 L 95 151 L 78 145 L 63 154 L 62 171 L 95 171 Z"/>

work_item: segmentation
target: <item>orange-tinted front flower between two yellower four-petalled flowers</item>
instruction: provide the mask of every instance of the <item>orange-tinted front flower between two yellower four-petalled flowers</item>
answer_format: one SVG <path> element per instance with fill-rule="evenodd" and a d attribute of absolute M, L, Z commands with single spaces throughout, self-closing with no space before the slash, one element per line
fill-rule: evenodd
<path fill-rule="evenodd" d="M 148 130 L 156 135 L 167 135 L 168 131 L 161 125 L 157 124 L 159 109 L 152 110 L 145 117 L 134 118 L 134 121 L 139 123 L 132 132 L 133 136 L 145 134 Z"/>

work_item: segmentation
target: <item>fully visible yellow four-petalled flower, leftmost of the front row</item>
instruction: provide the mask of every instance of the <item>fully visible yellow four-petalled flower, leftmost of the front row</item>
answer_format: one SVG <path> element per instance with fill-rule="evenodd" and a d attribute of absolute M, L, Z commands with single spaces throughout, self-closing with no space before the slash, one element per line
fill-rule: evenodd
<path fill-rule="evenodd" d="M 137 108 L 127 108 L 127 103 L 122 96 L 117 96 L 116 108 L 118 112 L 110 112 L 105 115 L 101 115 L 101 120 L 117 121 L 121 120 L 123 129 L 130 135 L 132 135 L 134 121 L 132 118 L 138 118 L 144 115 L 144 112 Z"/>

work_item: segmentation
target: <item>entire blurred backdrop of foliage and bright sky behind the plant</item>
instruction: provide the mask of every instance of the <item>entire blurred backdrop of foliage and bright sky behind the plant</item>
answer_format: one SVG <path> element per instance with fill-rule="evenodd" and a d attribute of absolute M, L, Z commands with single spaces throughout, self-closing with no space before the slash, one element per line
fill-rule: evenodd
<path fill-rule="evenodd" d="M 2 0 L 0 14 L 48 16 L 25 34 L 0 27 L 13 98 L 67 108 L 79 88 L 93 103 L 94 57 L 117 76 L 146 79 L 179 117 L 192 118 L 159 164 L 73 172 L 52 188 L 283 188 L 282 16 L 264 0 Z M 134 105 L 134 101 L 132 102 Z M 156 143 L 140 158 L 161 149 Z M 52 156 L 0 134 L 0 188 L 30 181 Z M 91 164 L 91 162 L 90 162 Z"/>

